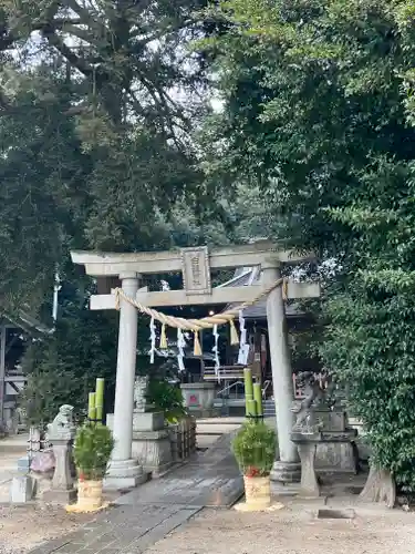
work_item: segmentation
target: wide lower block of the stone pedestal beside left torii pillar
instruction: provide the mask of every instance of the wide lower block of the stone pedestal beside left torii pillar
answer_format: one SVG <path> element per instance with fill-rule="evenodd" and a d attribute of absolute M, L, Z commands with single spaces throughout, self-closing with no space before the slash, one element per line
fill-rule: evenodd
<path fill-rule="evenodd" d="M 153 476 L 165 473 L 173 464 L 168 431 L 134 431 L 132 455 Z"/>

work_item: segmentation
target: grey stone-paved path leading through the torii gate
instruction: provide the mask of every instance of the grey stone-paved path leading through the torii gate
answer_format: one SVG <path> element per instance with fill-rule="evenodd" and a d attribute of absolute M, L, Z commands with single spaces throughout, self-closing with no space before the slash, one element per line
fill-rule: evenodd
<path fill-rule="evenodd" d="M 227 507 L 243 493 L 231 434 L 164 478 L 124 494 L 115 506 L 30 554 L 139 554 L 205 506 Z"/>

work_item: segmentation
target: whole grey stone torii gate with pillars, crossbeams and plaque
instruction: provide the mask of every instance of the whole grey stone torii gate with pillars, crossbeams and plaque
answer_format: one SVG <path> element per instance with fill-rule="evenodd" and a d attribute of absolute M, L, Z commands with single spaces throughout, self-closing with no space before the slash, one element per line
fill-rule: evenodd
<path fill-rule="evenodd" d="M 207 247 L 197 247 L 134 254 L 72 252 L 71 256 L 74 264 L 83 265 L 86 274 L 97 278 L 98 281 L 103 278 L 113 280 L 118 278 L 124 294 L 147 307 L 249 301 L 281 278 L 283 264 L 293 265 L 313 258 L 281 249 L 269 242 L 217 248 L 211 252 Z M 261 267 L 260 285 L 211 288 L 210 269 L 243 266 Z M 166 273 L 183 273 L 184 289 L 153 293 L 139 288 L 141 276 Z M 318 284 L 288 283 L 288 298 L 318 296 L 320 296 Z M 114 294 L 98 294 L 91 297 L 91 309 L 115 308 Z M 132 459 L 137 316 L 137 309 L 122 298 L 113 428 L 115 448 L 106 479 L 107 486 L 118 489 L 135 486 L 143 475 L 138 461 Z M 290 440 L 293 424 L 291 412 L 293 383 L 281 287 L 274 288 L 268 296 L 267 319 L 279 440 L 279 460 L 276 460 L 271 478 L 291 482 L 299 480 L 300 463 L 297 447 Z"/>

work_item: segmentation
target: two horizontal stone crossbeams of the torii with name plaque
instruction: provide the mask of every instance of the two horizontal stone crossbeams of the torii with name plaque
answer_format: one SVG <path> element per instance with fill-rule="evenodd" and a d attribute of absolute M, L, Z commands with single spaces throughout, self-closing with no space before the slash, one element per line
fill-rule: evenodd
<path fill-rule="evenodd" d="M 180 250 L 154 253 L 92 253 L 72 252 L 74 264 L 83 265 L 87 275 L 93 277 L 120 277 L 126 274 L 166 274 L 183 273 L 184 289 L 148 293 L 138 290 L 136 299 L 148 307 L 216 305 L 243 302 L 261 290 L 261 285 L 232 288 L 211 288 L 210 270 L 260 266 L 268 260 L 272 264 L 299 264 L 313 259 L 313 255 L 299 255 L 294 250 L 281 249 L 281 246 L 267 240 L 250 245 L 216 248 L 183 248 Z M 320 294 L 319 285 L 289 283 L 288 298 L 310 298 Z M 93 295 L 91 309 L 114 309 L 114 295 Z"/>

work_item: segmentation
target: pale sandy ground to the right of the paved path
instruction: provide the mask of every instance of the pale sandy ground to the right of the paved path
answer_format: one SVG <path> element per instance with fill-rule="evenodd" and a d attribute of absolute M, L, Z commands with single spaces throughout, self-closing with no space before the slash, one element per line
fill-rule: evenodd
<path fill-rule="evenodd" d="M 415 553 L 415 513 L 354 509 L 354 520 L 317 520 L 304 504 L 255 514 L 206 510 L 145 554 Z"/>

